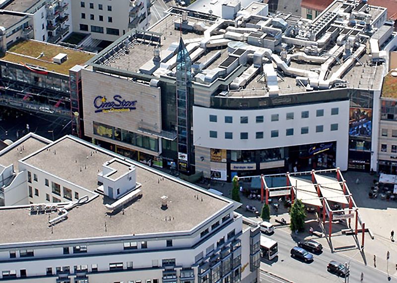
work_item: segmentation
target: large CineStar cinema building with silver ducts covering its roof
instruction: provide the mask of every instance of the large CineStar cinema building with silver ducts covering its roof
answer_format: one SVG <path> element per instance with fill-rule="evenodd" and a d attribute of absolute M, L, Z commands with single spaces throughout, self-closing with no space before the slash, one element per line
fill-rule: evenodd
<path fill-rule="evenodd" d="M 387 9 L 368 7 L 337 0 L 314 21 L 268 15 L 263 3 L 222 5 L 221 17 L 172 8 L 82 70 L 85 135 L 219 180 L 376 170 L 396 37 Z"/>

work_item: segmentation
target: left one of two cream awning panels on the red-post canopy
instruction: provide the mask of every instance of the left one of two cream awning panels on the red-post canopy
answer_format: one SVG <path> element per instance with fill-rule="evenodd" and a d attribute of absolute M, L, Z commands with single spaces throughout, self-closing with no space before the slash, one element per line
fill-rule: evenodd
<path fill-rule="evenodd" d="M 311 181 L 291 176 L 288 176 L 288 178 L 297 199 L 300 199 L 304 204 L 318 207 L 323 206 L 317 194 L 316 187 Z"/>

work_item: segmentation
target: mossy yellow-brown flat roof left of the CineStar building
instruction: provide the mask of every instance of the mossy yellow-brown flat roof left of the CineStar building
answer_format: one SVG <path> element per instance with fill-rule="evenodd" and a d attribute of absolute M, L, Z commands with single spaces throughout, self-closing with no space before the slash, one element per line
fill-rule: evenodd
<path fill-rule="evenodd" d="M 43 57 L 40 57 L 41 53 L 44 53 Z M 67 54 L 67 60 L 62 64 L 53 63 L 53 57 L 60 53 Z M 12 46 L 3 57 L 0 57 L 0 60 L 18 64 L 40 66 L 45 68 L 47 71 L 68 75 L 71 67 L 74 65 L 83 65 L 89 59 L 94 57 L 94 55 L 95 54 L 93 53 L 74 50 L 41 41 L 25 40 Z"/>

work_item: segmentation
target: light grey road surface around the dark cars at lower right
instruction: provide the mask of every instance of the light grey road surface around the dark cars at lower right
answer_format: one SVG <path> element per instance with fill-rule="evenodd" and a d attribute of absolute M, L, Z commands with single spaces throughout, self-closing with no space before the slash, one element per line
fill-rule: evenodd
<path fill-rule="evenodd" d="M 296 242 L 291 238 L 288 228 L 275 229 L 273 235 L 270 238 L 278 242 L 278 258 L 275 262 L 261 263 L 261 269 L 271 274 L 278 275 L 287 281 L 282 281 L 279 278 L 269 276 L 264 272 L 261 272 L 261 282 L 294 282 L 294 283 L 343 283 L 343 278 L 338 278 L 336 275 L 331 274 L 327 271 L 327 265 L 331 260 L 335 260 L 341 263 L 349 262 L 350 258 L 342 255 L 341 253 L 331 253 L 328 246 L 324 246 L 323 253 L 320 255 L 314 255 L 314 261 L 312 263 L 304 263 L 299 260 L 293 259 L 290 256 L 290 249 L 296 245 Z M 357 251 L 358 252 L 358 251 Z M 357 258 L 361 257 L 358 252 Z M 367 259 L 369 264 L 373 264 L 373 259 Z M 390 263 L 389 269 L 392 272 L 392 268 L 395 266 Z M 373 268 L 372 266 L 365 266 L 352 259 L 350 261 L 350 277 L 349 283 L 361 283 L 361 273 L 364 274 L 362 282 L 365 283 L 376 283 L 376 282 L 388 282 L 388 275 L 382 271 Z M 397 282 L 395 277 L 392 277 L 389 282 Z"/>

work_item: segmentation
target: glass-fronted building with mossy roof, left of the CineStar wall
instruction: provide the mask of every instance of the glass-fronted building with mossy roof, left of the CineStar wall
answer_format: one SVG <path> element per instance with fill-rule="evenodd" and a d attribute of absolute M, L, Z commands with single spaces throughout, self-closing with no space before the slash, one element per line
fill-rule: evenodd
<path fill-rule="evenodd" d="M 0 105 L 72 119 L 82 126 L 80 69 L 94 54 L 35 40 L 18 41 L 0 58 Z M 81 136 L 81 133 L 79 134 Z"/>

